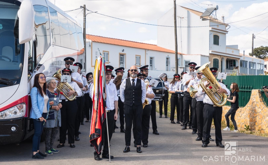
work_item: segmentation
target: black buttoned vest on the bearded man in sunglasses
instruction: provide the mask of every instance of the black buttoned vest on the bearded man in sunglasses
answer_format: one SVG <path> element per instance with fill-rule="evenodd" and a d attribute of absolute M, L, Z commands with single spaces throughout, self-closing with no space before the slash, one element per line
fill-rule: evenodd
<path fill-rule="evenodd" d="M 137 79 L 136 86 L 133 89 L 132 80 L 130 78 L 126 79 L 126 87 L 124 90 L 125 101 L 124 104 L 132 106 L 142 105 L 142 83 L 141 79 Z"/>

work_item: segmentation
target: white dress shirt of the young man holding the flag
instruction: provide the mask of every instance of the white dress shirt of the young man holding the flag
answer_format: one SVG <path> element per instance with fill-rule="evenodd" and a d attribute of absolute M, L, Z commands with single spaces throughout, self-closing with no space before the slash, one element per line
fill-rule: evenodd
<path fill-rule="evenodd" d="M 109 81 L 106 84 L 106 110 L 114 110 L 115 104 L 114 101 L 118 101 L 116 85 Z"/>

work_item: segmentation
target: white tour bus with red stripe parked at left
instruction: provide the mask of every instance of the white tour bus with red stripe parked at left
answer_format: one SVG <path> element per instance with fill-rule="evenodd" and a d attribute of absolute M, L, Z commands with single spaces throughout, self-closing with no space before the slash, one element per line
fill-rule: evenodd
<path fill-rule="evenodd" d="M 84 64 L 81 25 L 48 0 L 0 0 L 0 144 L 34 133 L 33 77 L 51 77 L 72 57 Z"/>

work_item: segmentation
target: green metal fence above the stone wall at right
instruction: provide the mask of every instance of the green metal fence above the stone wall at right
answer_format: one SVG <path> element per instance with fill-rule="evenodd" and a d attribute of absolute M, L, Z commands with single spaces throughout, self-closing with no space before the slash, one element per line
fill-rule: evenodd
<path fill-rule="evenodd" d="M 268 86 L 268 76 L 227 76 L 226 80 L 223 80 L 224 84 L 230 90 L 232 82 L 236 82 L 239 86 L 239 106 L 244 107 L 250 100 L 252 89 L 262 89 L 263 86 Z M 268 105 L 268 98 L 261 90 L 262 98 L 266 106 Z M 226 106 L 230 106 L 231 103 L 227 101 Z"/>

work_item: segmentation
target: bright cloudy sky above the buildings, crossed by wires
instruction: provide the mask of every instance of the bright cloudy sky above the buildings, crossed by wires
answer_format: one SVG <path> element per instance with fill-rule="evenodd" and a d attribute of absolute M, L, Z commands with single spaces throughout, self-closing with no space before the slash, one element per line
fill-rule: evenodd
<path fill-rule="evenodd" d="M 147 24 L 157 24 L 163 14 L 173 8 L 173 0 L 49 0 L 63 11 L 86 5 L 100 14 Z M 218 19 L 235 22 L 268 12 L 267 0 L 176 0 L 177 5 L 204 12 L 208 5 L 218 5 Z M 248 2 L 237 2 L 248 1 Z M 83 23 L 82 9 L 68 12 L 80 24 Z M 87 34 L 157 44 L 157 26 L 144 25 L 110 18 L 96 13 L 88 14 Z M 238 45 L 240 53 L 251 52 L 252 34 L 256 34 L 254 48 L 268 46 L 268 13 L 242 22 L 230 24 L 227 45 Z M 265 29 L 265 30 L 264 30 Z M 263 31 L 264 30 L 264 31 Z M 263 31 L 263 32 L 262 32 Z M 260 33 L 260 34 L 258 34 Z M 179 41 L 178 41 L 179 42 Z"/>

